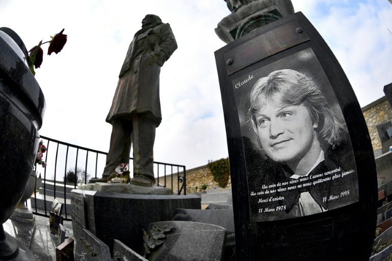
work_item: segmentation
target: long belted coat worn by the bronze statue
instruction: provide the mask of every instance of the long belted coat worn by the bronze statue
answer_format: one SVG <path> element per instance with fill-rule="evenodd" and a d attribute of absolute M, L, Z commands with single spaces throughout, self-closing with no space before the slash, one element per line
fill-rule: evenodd
<path fill-rule="evenodd" d="M 163 63 L 176 49 L 177 42 L 168 23 L 136 33 L 121 67 L 107 122 L 118 117 L 149 113 L 159 126 L 162 120 L 159 74 Z"/>

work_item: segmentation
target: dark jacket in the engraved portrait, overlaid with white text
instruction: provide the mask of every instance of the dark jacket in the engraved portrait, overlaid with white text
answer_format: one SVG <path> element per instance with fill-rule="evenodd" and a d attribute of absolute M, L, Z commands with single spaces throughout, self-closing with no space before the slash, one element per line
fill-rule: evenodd
<path fill-rule="evenodd" d="M 249 150 L 246 151 L 246 154 L 248 154 L 249 193 L 265 193 L 267 190 L 276 190 L 274 193 L 250 196 L 251 218 L 253 220 L 272 221 L 299 217 L 296 208 L 298 208 L 298 200 L 302 192 L 309 192 L 316 203 L 328 211 L 358 200 L 354 155 L 345 146 L 338 146 L 327 151 L 325 160 L 318 164 L 302 181 L 290 178 L 295 173 L 286 165 L 274 162 L 262 153 Z M 342 173 L 349 174 L 342 176 Z M 328 178 L 330 179 L 327 180 Z M 282 186 L 278 186 L 279 184 Z M 268 188 L 263 188 L 263 185 Z M 298 188 L 298 185 L 301 185 L 301 188 Z M 282 188 L 286 190 L 282 190 Z M 272 201 L 269 201 L 270 198 Z M 268 199 L 268 201 L 259 202 L 259 199 Z M 276 211 L 277 207 L 282 207 L 282 210 Z M 262 209 L 261 213 L 259 213 L 260 208 Z M 265 213 L 266 208 L 275 211 Z"/>

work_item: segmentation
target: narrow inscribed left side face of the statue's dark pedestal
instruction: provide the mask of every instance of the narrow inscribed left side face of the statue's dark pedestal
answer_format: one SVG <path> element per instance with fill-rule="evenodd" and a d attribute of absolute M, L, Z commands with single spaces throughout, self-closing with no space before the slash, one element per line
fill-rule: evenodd
<path fill-rule="evenodd" d="M 85 214 L 85 202 L 84 196 L 71 195 L 71 219 L 72 219 L 72 229 L 74 231 L 75 237 L 79 236 L 79 232 L 87 227 L 86 224 L 86 214 Z"/>

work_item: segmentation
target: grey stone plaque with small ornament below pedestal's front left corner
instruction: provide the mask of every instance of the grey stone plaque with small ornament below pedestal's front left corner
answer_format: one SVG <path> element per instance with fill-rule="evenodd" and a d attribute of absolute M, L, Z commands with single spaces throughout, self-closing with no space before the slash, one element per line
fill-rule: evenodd
<path fill-rule="evenodd" d="M 80 230 L 76 244 L 76 260 L 96 260 L 96 261 L 110 261 L 109 247 L 95 237 L 90 231 L 83 228 Z"/>

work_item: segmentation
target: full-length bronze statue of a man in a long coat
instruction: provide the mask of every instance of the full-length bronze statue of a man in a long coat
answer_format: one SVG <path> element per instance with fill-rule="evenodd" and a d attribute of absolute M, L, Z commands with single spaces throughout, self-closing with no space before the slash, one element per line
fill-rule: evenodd
<path fill-rule="evenodd" d="M 161 67 L 177 49 L 168 23 L 153 14 L 142 20 L 118 75 L 117 89 L 106 121 L 112 124 L 109 153 L 102 178 L 106 182 L 121 163 L 128 163 L 133 144 L 131 184 L 155 184 L 153 147 L 155 128 L 162 120 L 159 100 Z"/>

